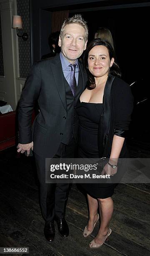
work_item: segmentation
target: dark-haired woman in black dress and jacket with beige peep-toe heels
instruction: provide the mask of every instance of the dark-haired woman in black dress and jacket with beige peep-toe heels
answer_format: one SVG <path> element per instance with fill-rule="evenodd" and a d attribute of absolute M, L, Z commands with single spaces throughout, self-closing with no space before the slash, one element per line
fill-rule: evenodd
<path fill-rule="evenodd" d="M 79 157 L 109 158 L 103 173 L 117 172 L 118 158 L 127 158 L 125 134 L 133 110 L 130 87 L 120 79 L 120 69 L 115 63 L 115 52 L 107 40 L 94 39 L 85 52 L 85 69 L 88 75 L 87 88 L 77 105 L 79 115 Z M 82 184 L 87 192 L 89 220 L 83 236 L 92 233 L 100 211 L 100 229 L 89 244 L 99 248 L 112 230 L 109 223 L 113 213 L 115 184 Z"/>

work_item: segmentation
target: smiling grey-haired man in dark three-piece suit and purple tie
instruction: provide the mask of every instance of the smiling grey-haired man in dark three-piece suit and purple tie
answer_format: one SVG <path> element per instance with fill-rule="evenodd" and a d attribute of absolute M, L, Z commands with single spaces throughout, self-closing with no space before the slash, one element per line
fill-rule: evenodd
<path fill-rule="evenodd" d="M 46 158 L 73 158 L 77 142 L 76 103 L 86 85 L 86 74 L 78 61 L 86 49 L 88 29 L 81 15 L 62 24 L 60 54 L 33 65 L 18 108 L 20 140 L 18 152 L 34 151 L 40 181 L 40 204 L 47 241 L 55 236 L 54 219 L 60 234 L 69 235 L 65 207 L 69 184 L 45 183 Z M 38 101 L 40 112 L 31 131 L 32 110 Z"/>

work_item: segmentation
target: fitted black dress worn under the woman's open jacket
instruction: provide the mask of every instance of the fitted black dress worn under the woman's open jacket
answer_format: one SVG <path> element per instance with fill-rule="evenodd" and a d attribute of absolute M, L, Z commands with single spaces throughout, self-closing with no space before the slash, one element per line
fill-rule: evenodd
<path fill-rule="evenodd" d="M 79 117 L 78 157 L 99 158 L 98 155 L 98 124 L 103 103 L 77 102 L 77 115 Z M 80 184 L 87 194 L 95 198 L 111 197 L 115 184 Z"/>

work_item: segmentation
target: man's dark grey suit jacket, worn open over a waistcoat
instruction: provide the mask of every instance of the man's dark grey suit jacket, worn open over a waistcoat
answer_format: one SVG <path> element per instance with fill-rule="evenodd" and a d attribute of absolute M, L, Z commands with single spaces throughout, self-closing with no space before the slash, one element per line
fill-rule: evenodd
<path fill-rule="evenodd" d="M 82 74 L 82 91 L 85 89 L 87 77 L 79 61 Z M 31 129 L 34 104 L 38 100 L 40 112 Z M 35 154 L 53 157 L 60 146 L 67 117 L 64 75 L 60 55 L 36 62 L 33 65 L 23 89 L 19 108 L 19 143 L 33 141 Z"/>

